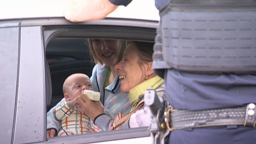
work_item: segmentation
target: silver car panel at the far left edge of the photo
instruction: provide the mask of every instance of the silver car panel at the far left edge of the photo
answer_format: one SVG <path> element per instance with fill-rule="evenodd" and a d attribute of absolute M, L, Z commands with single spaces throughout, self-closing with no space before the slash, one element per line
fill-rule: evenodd
<path fill-rule="evenodd" d="M 19 66 L 19 23 L 15 21 L 0 22 L 0 109 L 1 116 L 0 143 L 10 144 L 15 115 L 17 77 Z"/>

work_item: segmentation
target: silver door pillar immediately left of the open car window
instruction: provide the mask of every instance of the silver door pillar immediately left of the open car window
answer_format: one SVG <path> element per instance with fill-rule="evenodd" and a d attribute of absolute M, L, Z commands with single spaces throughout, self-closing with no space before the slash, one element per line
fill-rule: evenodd
<path fill-rule="evenodd" d="M 20 52 L 13 143 L 44 141 L 45 54 L 41 26 L 20 27 Z"/>

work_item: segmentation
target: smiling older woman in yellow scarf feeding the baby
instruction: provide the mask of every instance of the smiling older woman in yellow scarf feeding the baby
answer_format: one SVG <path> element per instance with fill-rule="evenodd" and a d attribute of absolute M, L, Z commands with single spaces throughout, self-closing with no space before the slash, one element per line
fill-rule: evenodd
<path fill-rule="evenodd" d="M 128 93 L 129 105 L 131 111 L 143 99 L 145 90 L 148 87 L 153 89 L 164 90 L 163 79 L 153 73 L 152 69 L 152 54 L 154 43 L 132 41 L 124 51 L 122 60 L 115 65 L 115 70 L 118 72 L 121 80 L 121 91 Z M 164 92 L 161 92 L 163 96 Z M 82 110 L 87 116 L 94 120 L 94 123 L 104 131 L 111 130 L 113 117 L 106 113 L 100 113 L 100 107 L 95 102 L 91 101 L 85 94 L 81 94 L 78 98 Z M 119 104 L 117 102 L 116 104 Z M 116 105 L 115 105 L 116 106 Z M 118 107 L 123 109 L 124 105 Z M 94 109 L 92 111 L 92 109 Z M 147 111 L 140 113 L 139 111 Z M 121 129 L 129 127 L 143 127 L 150 124 L 150 110 L 143 107 L 139 110 L 138 116 L 133 116 L 132 120 L 125 122 Z M 118 112 L 121 112 L 120 110 Z"/>

